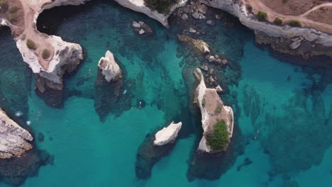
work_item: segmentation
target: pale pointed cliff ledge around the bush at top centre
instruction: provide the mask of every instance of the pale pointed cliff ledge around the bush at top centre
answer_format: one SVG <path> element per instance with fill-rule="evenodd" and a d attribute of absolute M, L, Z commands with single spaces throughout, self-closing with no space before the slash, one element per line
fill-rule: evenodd
<path fill-rule="evenodd" d="M 118 2 L 118 4 L 121 4 L 121 6 L 130 8 L 133 11 L 145 13 L 150 18 L 153 18 L 162 23 L 163 26 L 168 27 L 167 18 L 171 15 L 172 11 L 174 11 L 176 8 L 180 6 L 184 6 L 188 0 L 179 0 L 177 4 L 173 5 L 170 8 L 170 13 L 167 14 L 158 13 L 157 11 L 151 10 L 150 8 L 145 6 L 144 0 L 115 0 L 115 1 Z"/>

